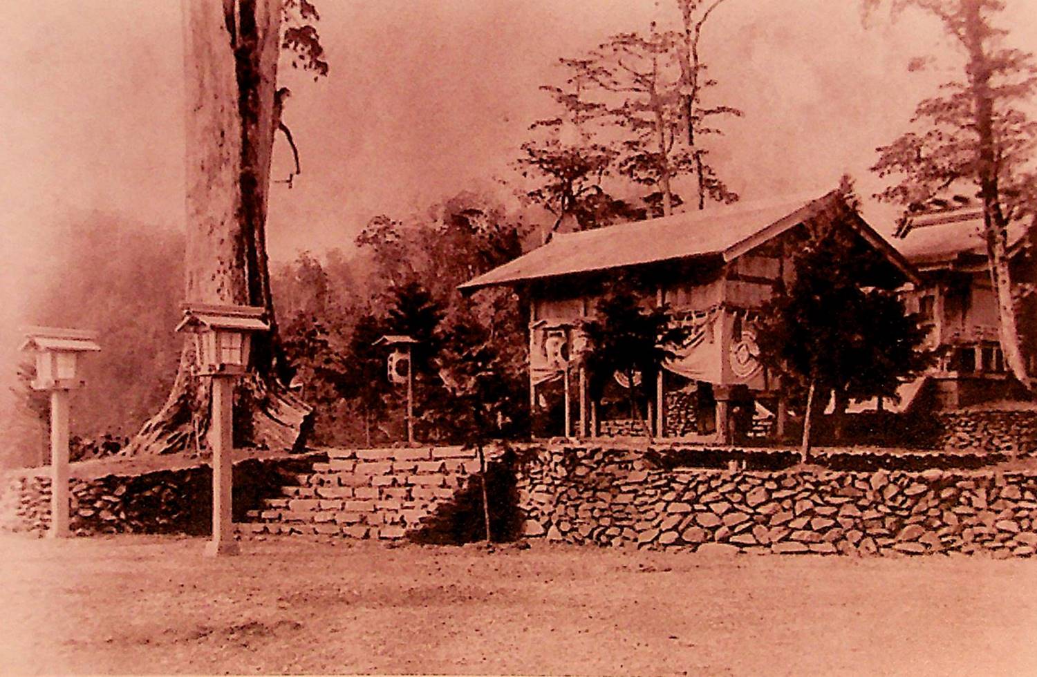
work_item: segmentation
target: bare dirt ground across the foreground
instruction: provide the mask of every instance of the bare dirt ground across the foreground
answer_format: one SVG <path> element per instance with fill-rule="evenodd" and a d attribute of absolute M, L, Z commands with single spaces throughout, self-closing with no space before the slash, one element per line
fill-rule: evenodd
<path fill-rule="evenodd" d="M 1037 560 L 202 544 L 0 538 L 0 672 L 1037 673 Z"/>

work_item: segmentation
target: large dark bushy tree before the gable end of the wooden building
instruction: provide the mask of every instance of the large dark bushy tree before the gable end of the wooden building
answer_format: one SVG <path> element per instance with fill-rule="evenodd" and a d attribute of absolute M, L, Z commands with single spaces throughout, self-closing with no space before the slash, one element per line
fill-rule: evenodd
<path fill-rule="evenodd" d="M 865 286 L 888 277 L 878 255 L 862 254 L 836 228 L 853 208 L 817 221 L 793 257 L 794 280 L 767 302 L 758 320 L 761 361 L 808 392 L 804 462 L 814 414 L 829 393 L 838 414 L 849 398 L 896 398 L 902 380 L 929 364 L 920 350 L 925 331 L 918 316 L 907 314 L 894 289 Z"/>

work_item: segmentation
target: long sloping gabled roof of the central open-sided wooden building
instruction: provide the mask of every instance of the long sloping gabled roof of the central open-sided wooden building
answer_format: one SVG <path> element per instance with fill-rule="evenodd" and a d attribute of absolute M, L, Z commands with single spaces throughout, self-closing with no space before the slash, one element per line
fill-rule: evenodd
<path fill-rule="evenodd" d="M 816 195 L 816 194 L 815 194 Z M 838 191 L 769 203 L 736 204 L 556 235 L 546 245 L 460 285 L 461 291 L 574 273 L 690 258 L 730 261 L 841 200 Z M 912 265 L 863 219 L 850 224 L 904 275 Z"/>

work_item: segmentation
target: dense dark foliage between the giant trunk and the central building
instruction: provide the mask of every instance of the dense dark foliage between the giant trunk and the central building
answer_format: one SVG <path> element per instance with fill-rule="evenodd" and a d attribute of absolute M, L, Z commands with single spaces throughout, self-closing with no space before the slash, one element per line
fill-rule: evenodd
<path fill-rule="evenodd" d="M 385 335 L 418 341 L 412 369 L 419 439 L 517 430 L 525 413 L 515 384 L 526 362 L 518 298 L 510 290 L 465 298 L 456 286 L 518 256 L 528 230 L 492 200 L 461 193 L 408 219 L 371 219 L 353 258 L 329 256 L 329 269 L 338 272 L 308 254 L 279 270 L 274 288 L 284 346 L 297 384 L 317 406 L 316 442 L 405 439 L 405 390 L 390 384 L 388 348 L 375 345 Z M 492 386 L 483 367 L 473 372 L 468 360 L 491 365 Z M 473 404 L 473 393 L 482 404 Z M 476 416 L 480 406 L 493 410 L 492 426 Z"/>

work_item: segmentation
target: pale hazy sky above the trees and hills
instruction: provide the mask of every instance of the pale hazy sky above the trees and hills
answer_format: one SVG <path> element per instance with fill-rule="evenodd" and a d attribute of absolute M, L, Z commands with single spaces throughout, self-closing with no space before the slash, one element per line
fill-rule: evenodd
<path fill-rule="evenodd" d="M 492 186 L 544 110 L 537 86 L 553 61 L 672 4 L 317 0 L 331 74 L 314 83 L 282 72 L 303 175 L 272 192 L 272 255 L 348 247 L 375 214 Z M 1037 3 L 1010 4 L 1017 41 L 1037 44 Z M 181 226 L 181 35 L 176 0 L 5 2 L 0 21 L 9 317 L 60 246 L 54 226 L 91 209 Z M 872 23 L 862 24 L 857 0 L 728 0 L 716 12 L 703 45 L 721 81 L 716 100 L 746 116 L 713 158 L 745 198 L 831 188 L 844 171 L 865 193 L 878 187 L 867 172 L 874 147 L 935 82 L 909 74 L 907 60 L 942 37 L 910 16 Z M 283 172 L 283 142 L 275 156 Z"/>

